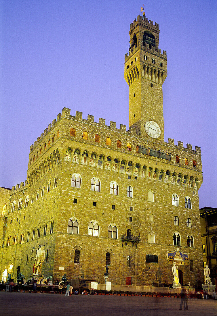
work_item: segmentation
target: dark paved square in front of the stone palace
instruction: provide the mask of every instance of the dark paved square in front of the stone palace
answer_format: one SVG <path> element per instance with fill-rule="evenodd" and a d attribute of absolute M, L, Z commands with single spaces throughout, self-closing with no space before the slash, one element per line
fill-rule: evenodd
<path fill-rule="evenodd" d="M 180 311 L 180 298 L 65 295 L 0 292 L 1 315 L 217 315 L 217 300 L 188 300 Z"/>

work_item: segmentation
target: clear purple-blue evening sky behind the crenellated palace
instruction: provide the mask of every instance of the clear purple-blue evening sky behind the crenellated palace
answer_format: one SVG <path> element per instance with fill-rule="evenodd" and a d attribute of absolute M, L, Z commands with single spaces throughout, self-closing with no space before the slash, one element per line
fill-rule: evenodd
<path fill-rule="evenodd" d="M 141 1 L 2 0 L 0 186 L 25 181 L 29 148 L 63 107 L 129 122 L 124 80 L 130 23 Z M 167 51 L 165 141 L 201 147 L 200 207 L 216 199 L 216 1 L 150 0 Z"/>

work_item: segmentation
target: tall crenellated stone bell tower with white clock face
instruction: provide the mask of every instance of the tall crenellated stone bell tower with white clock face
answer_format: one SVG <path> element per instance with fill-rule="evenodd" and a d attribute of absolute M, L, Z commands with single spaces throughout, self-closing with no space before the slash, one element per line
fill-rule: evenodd
<path fill-rule="evenodd" d="M 164 141 L 162 85 L 167 55 L 158 48 L 158 23 L 138 15 L 129 33 L 129 55 L 125 54 L 124 61 L 124 78 L 130 88 L 129 128 L 152 141 Z"/>

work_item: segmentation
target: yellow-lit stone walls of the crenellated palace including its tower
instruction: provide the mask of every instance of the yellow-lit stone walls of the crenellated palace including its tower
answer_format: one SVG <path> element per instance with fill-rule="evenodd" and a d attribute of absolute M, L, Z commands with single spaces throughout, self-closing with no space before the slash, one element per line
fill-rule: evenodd
<path fill-rule="evenodd" d="M 182 142 L 175 145 L 173 139 L 164 141 L 166 52 L 161 54 L 158 49 L 158 24 L 155 29 L 152 21 L 140 16 L 137 21 L 145 21 L 156 46 L 143 45 L 141 26 L 137 47 L 131 46 L 129 57 L 125 56 L 129 131 L 125 125 L 118 129 L 110 122 L 107 126 L 105 119 L 97 123 L 91 115 L 83 119 L 81 112 L 73 116 L 63 108 L 30 146 L 25 185 L 22 182 L 10 192 L 1 272 L 12 264 L 14 278 L 17 266 L 28 278 L 36 250 L 44 244 L 42 273 L 53 275 L 54 280 L 66 273 L 67 279 L 104 283 L 107 263 L 112 284 L 171 284 L 173 259 L 181 253 L 177 258 L 182 283 L 202 282 L 201 151 L 200 147 L 192 150 L 190 144 L 185 148 Z M 136 20 L 130 27 L 131 39 L 134 24 Z M 138 64 L 136 72 L 132 70 L 135 80 L 131 85 L 126 63 L 131 56 L 135 60 L 135 50 Z M 163 60 L 159 73 L 150 67 L 147 72 L 144 54 L 155 58 L 156 65 Z M 138 114 L 135 120 L 133 113 Z M 146 134 L 147 120 L 159 124 L 159 138 Z M 193 240 L 190 244 L 188 238 Z"/>

